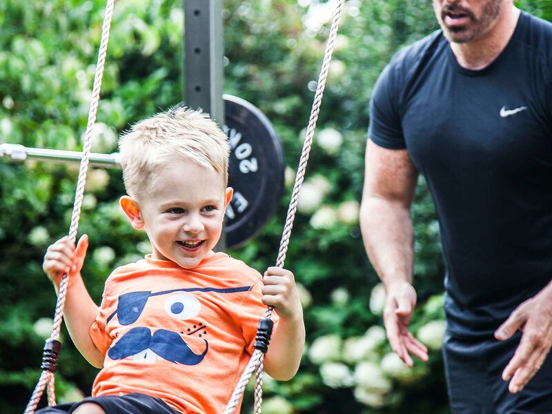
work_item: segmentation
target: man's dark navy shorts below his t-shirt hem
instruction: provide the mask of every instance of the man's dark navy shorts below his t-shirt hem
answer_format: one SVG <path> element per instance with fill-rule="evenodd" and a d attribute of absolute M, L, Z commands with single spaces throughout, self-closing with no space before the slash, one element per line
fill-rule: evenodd
<path fill-rule="evenodd" d="M 552 353 L 540 371 L 516 394 L 508 391 L 502 371 L 513 357 L 521 334 L 500 342 L 459 339 L 445 334 L 443 357 L 453 414 L 552 413 Z"/>

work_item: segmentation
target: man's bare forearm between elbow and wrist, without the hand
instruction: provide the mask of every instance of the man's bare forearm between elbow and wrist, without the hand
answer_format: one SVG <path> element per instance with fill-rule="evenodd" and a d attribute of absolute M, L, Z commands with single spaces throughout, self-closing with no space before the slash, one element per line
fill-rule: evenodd
<path fill-rule="evenodd" d="M 360 225 L 366 253 L 386 287 L 411 283 L 414 253 L 408 206 L 383 197 L 364 197 Z"/>

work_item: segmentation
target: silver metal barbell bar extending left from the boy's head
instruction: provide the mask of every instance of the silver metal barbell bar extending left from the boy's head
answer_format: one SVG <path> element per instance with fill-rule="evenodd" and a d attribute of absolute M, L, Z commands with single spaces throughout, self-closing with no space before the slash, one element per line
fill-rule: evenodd
<path fill-rule="evenodd" d="M 63 164 L 80 164 L 82 152 L 50 150 L 48 148 L 28 148 L 19 144 L 0 144 L 0 158 L 23 162 L 28 159 L 50 161 Z M 99 154 L 90 152 L 89 166 L 99 168 L 121 168 L 119 152 Z"/>

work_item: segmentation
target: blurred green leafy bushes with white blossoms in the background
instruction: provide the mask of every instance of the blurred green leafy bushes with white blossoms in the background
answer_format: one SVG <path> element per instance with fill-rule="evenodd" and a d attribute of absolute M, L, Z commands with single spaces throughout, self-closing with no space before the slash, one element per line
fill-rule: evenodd
<path fill-rule="evenodd" d="M 224 1 L 224 92 L 252 102 L 273 122 L 290 172 L 297 168 L 329 26 L 328 19 L 317 24 L 313 17 L 313 10 L 326 3 L 305 3 Z M 549 0 L 521 0 L 519 6 L 552 19 Z M 0 142 L 81 148 L 103 7 L 103 0 L 0 2 Z M 117 1 L 93 150 L 115 151 L 121 130 L 181 101 L 183 26 L 180 0 Z M 318 201 L 299 208 L 286 262 L 303 288 L 308 351 L 293 380 L 266 380 L 267 413 L 446 412 L 437 349 L 428 364 L 417 363 L 408 373 L 387 356 L 391 350 L 381 337 L 377 305 L 381 290 L 356 219 L 373 84 L 398 48 L 435 28 L 428 1 L 346 2 L 305 181 Z M 2 413 L 23 411 L 39 378 L 41 348 L 49 335 L 45 326 L 55 306 L 41 262 L 46 247 L 67 233 L 76 177 L 72 166 L 0 162 Z M 274 264 L 290 189 L 288 183 L 262 233 L 230 252 L 233 256 L 261 271 Z M 90 235 L 83 274 L 97 301 L 114 266 L 148 252 L 144 234 L 119 213 L 123 192 L 119 171 L 89 172 L 79 233 Z M 423 179 L 413 217 L 420 297 L 413 331 L 437 343 L 443 265 Z M 97 370 L 79 355 L 66 331 L 62 335 L 58 397 L 88 395 Z M 383 378 L 380 388 L 374 388 L 375 381 L 351 380 L 359 366 Z M 251 398 L 248 393 L 244 406 Z"/>

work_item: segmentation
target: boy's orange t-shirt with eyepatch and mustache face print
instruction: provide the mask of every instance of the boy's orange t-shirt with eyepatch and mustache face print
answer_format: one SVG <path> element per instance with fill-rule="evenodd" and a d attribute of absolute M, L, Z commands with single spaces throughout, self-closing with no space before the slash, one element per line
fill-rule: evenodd
<path fill-rule="evenodd" d="M 115 269 L 90 328 L 106 355 L 92 395 L 144 393 L 182 413 L 221 413 L 254 351 L 261 288 L 256 270 L 224 253 L 193 269 L 149 255 Z"/>

